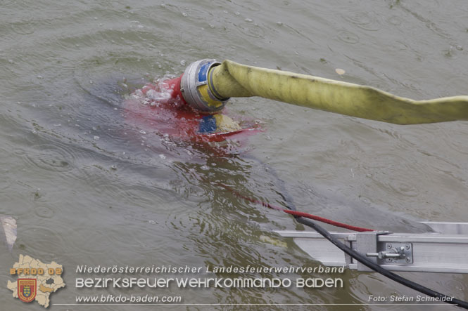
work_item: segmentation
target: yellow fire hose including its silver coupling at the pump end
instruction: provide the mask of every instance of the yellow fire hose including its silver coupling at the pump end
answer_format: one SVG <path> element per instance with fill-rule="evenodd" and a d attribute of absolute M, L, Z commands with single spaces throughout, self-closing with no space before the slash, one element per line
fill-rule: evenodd
<path fill-rule="evenodd" d="M 190 83 L 184 84 L 184 81 L 191 79 L 190 74 L 195 79 L 198 74 L 193 94 L 194 98 L 198 97 L 195 103 L 186 96 Z M 241 65 L 231 60 L 194 62 L 184 73 L 181 86 L 189 105 L 207 112 L 221 110 L 231 97 L 260 96 L 394 124 L 468 120 L 468 95 L 412 100 L 370 86 Z"/>

